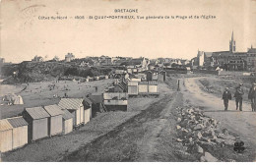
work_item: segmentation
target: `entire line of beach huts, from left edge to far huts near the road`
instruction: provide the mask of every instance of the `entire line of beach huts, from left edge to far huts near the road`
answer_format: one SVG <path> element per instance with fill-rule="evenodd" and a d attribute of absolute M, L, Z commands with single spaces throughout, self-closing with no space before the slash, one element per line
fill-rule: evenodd
<path fill-rule="evenodd" d="M 22 116 L 0 120 L 0 152 L 20 148 L 40 138 L 69 134 L 90 122 L 96 112 L 127 111 L 128 96 L 158 94 L 158 84 L 166 77 L 165 72 L 151 71 L 141 75 L 145 80 L 140 75 L 138 78 L 122 75 L 123 78 L 116 79 L 114 86 L 102 94 L 61 98 L 58 104 L 25 108 Z"/>

